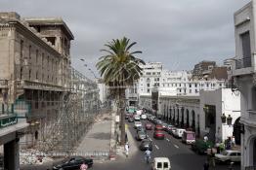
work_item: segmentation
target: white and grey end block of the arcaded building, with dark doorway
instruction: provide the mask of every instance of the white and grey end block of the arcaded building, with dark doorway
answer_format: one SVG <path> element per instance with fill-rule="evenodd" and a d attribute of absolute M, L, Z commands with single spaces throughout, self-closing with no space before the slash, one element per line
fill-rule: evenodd
<path fill-rule="evenodd" d="M 240 144 L 240 134 L 234 133 L 234 124 L 239 124 L 240 93 L 231 88 L 214 91 L 200 91 L 200 134 L 208 134 L 209 140 L 224 142 L 235 136 L 236 144 Z M 222 122 L 222 116 L 232 118 L 232 124 Z"/>

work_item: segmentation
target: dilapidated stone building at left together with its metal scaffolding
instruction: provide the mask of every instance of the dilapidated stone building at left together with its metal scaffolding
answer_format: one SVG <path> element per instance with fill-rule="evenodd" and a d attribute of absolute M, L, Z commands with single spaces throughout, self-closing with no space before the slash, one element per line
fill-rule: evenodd
<path fill-rule="evenodd" d="M 21 147 L 44 144 L 54 128 L 56 137 L 64 137 L 69 134 L 64 134 L 65 129 L 74 128 L 75 119 L 80 119 L 84 111 L 88 111 L 86 119 L 98 109 L 97 84 L 70 67 L 73 39 L 60 17 L 21 18 L 14 12 L 0 13 L 0 120 L 6 126 L 28 123 L 19 133 L 14 128 L 15 139 L 24 136 L 15 142 Z M 86 100 L 77 102 L 80 99 Z M 4 117 L 7 115 L 8 119 Z M 77 135 L 79 130 L 75 128 L 72 134 Z M 71 145 L 65 144 L 72 141 L 64 139 L 62 145 L 70 149 Z M 0 142 L 4 145 L 10 141 Z M 47 144 L 48 149 L 60 145 L 54 139 Z M 17 165 L 9 166 L 8 161 L 4 166 L 18 169 Z"/>

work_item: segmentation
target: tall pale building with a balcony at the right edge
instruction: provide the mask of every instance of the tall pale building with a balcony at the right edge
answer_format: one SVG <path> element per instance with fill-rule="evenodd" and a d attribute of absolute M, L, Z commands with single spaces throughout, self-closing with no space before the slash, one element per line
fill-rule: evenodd
<path fill-rule="evenodd" d="M 241 169 L 256 167 L 256 1 L 235 13 L 233 83 L 241 92 Z"/>

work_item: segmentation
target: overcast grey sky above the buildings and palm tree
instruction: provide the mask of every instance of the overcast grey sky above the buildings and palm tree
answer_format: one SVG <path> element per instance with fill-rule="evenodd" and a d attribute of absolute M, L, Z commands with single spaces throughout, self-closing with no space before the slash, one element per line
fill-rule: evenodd
<path fill-rule="evenodd" d="M 72 31 L 72 64 L 92 77 L 111 39 L 128 37 L 169 70 L 188 70 L 203 59 L 235 55 L 234 13 L 249 0 L 0 0 L 2 12 L 21 17 L 63 17 Z M 88 68 L 79 58 L 85 58 Z"/>

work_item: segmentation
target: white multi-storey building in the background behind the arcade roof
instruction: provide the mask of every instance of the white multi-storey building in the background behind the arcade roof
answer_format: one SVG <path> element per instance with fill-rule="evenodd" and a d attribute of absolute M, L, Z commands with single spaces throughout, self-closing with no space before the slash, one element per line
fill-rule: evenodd
<path fill-rule="evenodd" d="M 192 73 L 188 71 L 168 71 L 162 69 L 160 62 L 149 62 L 142 65 L 143 76 L 138 83 L 138 93 L 151 94 L 152 89 L 157 87 L 158 91 L 173 93 L 175 95 L 199 95 L 200 90 L 215 90 L 226 87 L 225 80 L 212 79 L 193 80 Z M 170 95 L 170 94 L 169 94 Z"/>

